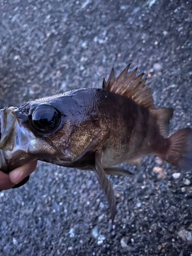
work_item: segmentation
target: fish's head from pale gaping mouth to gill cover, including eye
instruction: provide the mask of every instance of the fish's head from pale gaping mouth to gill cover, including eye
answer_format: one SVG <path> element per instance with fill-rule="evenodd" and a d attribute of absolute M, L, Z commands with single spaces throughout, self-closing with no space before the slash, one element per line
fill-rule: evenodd
<path fill-rule="evenodd" d="M 100 131 L 87 120 L 81 99 L 72 94 L 75 93 L 0 110 L 0 168 L 13 169 L 26 163 L 26 159 L 70 166 L 91 149 Z"/>

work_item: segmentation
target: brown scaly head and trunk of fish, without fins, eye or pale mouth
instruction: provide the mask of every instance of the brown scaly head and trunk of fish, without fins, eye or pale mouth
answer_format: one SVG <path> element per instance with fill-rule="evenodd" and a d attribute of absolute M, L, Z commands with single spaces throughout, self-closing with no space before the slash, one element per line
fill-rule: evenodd
<path fill-rule="evenodd" d="M 57 131 L 41 134 L 31 127 L 28 116 L 39 104 L 59 110 L 61 122 Z M 147 109 L 105 89 L 75 90 L 27 102 L 13 111 L 13 118 L 24 128 L 23 135 L 26 131 L 27 135 L 31 133 L 23 153 L 67 167 L 93 168 L 94 153 L 101 150 L 102 166 L 107 168 L 141 155 L 157 153 L 165 141 Z M 20 142 L 14 143 L 21 146 Z M 7 143 L 5 147 L 8 147 Z M 16 148 L 14 151 L 17 152 Z M 8 160 L 8 165 L 1 167 L 7 172 L 17 167 L 14 155 Z"/>

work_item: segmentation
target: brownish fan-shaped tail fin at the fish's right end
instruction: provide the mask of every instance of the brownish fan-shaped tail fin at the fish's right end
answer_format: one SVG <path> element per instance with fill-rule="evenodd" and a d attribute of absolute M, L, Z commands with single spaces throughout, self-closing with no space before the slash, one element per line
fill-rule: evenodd
<path fill-rule="evenodd" d="M 181 129 L 168 137 L 169 148 L 164 160 L 183 170 L 192 170 L 192 129 Z"/>

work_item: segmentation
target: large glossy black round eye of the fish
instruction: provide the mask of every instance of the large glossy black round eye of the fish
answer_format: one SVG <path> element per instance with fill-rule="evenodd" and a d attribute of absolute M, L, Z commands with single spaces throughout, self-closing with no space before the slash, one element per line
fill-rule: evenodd
<path fill-rule="evenodd" d="M 33 110 L 30 121 L 37 132 L 50 133 L 59 126 L 60 115 L 52 106 L 40 105 Z"/>

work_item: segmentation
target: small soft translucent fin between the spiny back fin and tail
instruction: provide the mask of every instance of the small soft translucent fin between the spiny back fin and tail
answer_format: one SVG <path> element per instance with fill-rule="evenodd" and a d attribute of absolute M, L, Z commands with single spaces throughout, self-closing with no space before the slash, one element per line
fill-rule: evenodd
<path fill-rule="evenodd" d="M 173 109 L 172 108 L 163 108 L 163 109 L 156 109 L 150 110 L 150 113 L 156 118 L 157 125 L 159 126 L 160 134 L 167 138 L 169 134 L 169 120 L 173 116 Z"/>

